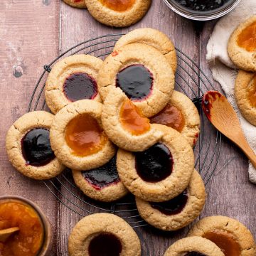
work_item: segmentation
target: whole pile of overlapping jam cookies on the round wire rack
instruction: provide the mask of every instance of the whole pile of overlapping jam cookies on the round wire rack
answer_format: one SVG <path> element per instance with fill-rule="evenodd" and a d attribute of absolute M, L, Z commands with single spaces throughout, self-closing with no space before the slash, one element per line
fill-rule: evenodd
<path fill-rule="evenodd" d="M 122 36 L 104 61 L 60 60 L 46 81 L 53 114 L 30 112 L 12 125 L 11 163 L 37 179 L 67 166 L 90 198 L 110 202 L 130 192 L 146 222 L 183 228 L 201 213 L 206 192 L 194 169 L 200 117 L 174 90 L 176 66 L 173 43 L 151 28 Z"/>

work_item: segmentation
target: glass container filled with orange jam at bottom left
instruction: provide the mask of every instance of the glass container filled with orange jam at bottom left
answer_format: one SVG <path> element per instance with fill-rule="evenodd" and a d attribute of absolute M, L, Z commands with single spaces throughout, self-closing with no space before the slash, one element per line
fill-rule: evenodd
<path fill-rule="evenodd" d="M 0 197 L 0 230 L 19 228 L 0 242 L 0 256 L 46 255 L 50 246 L 50 226 L 38 210 L 25 198 Z"/>

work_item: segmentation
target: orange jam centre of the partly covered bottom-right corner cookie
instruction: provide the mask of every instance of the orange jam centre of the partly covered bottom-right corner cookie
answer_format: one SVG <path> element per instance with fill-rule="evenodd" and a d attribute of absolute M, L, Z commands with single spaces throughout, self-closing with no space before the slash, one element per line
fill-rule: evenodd
<path fill-rule="evenodd" d="M 233 238 L 233 235 L 227 231 L 213 230 L 203 235 L 203 238 L 206 238 L 218 245 L 225 256 L 241 255 L 240 245 L 235 240 L 235 238 Z"/>

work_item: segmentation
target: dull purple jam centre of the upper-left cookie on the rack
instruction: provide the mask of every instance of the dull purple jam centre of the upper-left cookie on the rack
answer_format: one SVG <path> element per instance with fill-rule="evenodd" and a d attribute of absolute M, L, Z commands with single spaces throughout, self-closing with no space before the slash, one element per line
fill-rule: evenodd
<path fill-rule="evenodd" d="M 63 92 L 71 102 L 93 100 L 97 95 L 97 82 L 85 73 L 73 73 L 66 78 Z"/>

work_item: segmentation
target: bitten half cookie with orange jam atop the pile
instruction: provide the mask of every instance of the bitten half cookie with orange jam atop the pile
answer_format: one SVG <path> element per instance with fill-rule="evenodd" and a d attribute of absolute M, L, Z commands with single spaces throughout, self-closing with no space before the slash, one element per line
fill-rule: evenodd
<path fill-rule="evenodd" d="M 163 135 L 119 88 L 113 88 L 105 99 L 102 126 L 114 144 L 129 151 L 143 151 Z"/>

